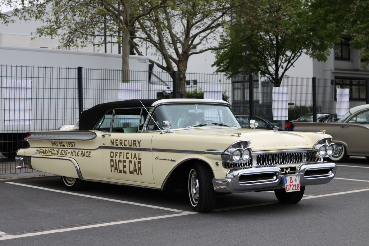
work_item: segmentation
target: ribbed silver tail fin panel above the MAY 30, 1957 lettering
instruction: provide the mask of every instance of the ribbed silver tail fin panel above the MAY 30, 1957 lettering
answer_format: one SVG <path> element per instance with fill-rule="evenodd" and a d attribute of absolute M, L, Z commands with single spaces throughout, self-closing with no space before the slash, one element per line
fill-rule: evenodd
<path fill-rule="evenodd" d="M 95 139 L 97 134 L 89 131 L 53 131 L 53 132 L 30 132 L 25 139 L 69 140 L 88 141 Z"/>

